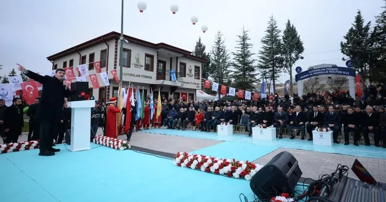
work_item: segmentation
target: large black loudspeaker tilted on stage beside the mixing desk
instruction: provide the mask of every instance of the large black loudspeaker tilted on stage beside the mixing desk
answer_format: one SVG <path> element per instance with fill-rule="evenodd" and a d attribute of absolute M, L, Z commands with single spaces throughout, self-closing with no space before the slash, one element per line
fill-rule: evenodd
<path fill-rule="evenodd" d="M 249 185 L 261 200 L 281 193 L 292 195 L 301 175 L 295 157 L 290 152 L 282 151 L 250 179 Z"/>

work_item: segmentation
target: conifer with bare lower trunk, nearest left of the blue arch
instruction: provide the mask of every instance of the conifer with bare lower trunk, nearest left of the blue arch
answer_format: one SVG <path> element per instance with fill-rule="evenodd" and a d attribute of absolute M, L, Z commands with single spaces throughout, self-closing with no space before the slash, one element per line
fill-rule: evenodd
<path fill-rule="evenodd" d="M 290 75 L 290 95 L 294 93 L 292 69 L 299 59 L 303 59 L 301 54 L 304 52 L 303 41 L 301 41 L 294 24 L 288 19 L 283 31 L 282 56 L 284 58 L 284 72 Z"/>

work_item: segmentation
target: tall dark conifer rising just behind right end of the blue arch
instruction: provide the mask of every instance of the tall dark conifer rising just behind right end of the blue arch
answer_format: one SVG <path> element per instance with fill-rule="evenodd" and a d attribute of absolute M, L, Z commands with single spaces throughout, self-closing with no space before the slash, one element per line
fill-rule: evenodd
<path fill-rule="evenodd" d="M 340 42 L 340 51 L 353 61 L 353 68 L 361 76 L 362 86 L 370 79 L 372 60 L 372 39 L 370 37 L 371 22 L 364 25 L 364 19 L 360 10 L 355 16 L 354 24 L 344 36 L 344 42 Z M 345 60 L 345 58 L 343 58 Z"/>

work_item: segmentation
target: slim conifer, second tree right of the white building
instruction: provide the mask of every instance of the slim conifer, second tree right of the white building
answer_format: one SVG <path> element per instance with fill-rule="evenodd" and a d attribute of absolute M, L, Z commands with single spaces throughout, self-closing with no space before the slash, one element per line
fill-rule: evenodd
<path fill-rule="evenodd" d="M 215 37 L 215 44 L 210 52 L 210 69 L 209 76 L 220 84 L 230 84 L 229 53 L 225 47 L 225 39 L 219 31 Z"/>

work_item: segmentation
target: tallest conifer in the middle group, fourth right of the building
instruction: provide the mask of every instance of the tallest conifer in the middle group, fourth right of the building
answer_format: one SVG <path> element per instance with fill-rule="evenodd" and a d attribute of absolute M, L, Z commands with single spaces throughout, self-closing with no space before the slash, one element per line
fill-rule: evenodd
<path fill-rule="evenodd" d="M 259 69 L 267 80 L 272 80 L 274 85 L 282 72 L 283 58 L 281 57 L 280 30 L 278 29 L 274 16 L 268 21 L 268 27 L 265 30 L 265 36 L 261 39 L 263 44 L 259 51 Z M 272 93 L 272 92 L 269 92 Z"/>

